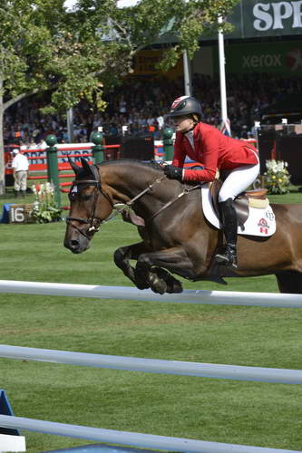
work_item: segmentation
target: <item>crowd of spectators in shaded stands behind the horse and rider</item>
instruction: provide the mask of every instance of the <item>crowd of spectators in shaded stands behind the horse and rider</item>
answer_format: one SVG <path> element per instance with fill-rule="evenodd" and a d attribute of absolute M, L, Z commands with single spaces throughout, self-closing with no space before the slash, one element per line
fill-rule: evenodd
<path fill-rule="evenodd" d="M 93 130 L 102 127 L 106 137 L 122 135 L 127 126 L 129 134 L 154 134 L 161 139 L 162 130 L 172 127 L 166 116 L 171 102 L 183 95 L 183 79 L 127 79 L 121 86 L 104 93 L 107 108 L 100 112 L 81 101 L 73 109 L 73 133 L 75 142 L 89 141 Z M 220 93 L 219 79 L 208 75 L 194 74 L 193 96 L 202 105 L 201 120 L 219 127 Z M 254 73 L 239 77 L 227 76 L 228 114 L 232 136 L 252 136 L 255 120 L 260 120 L 261 111 L 288 94 L 301 92 L 299 79 L 284 79 L 269 74 Z M 54 133 L 59 143 L 68 141 L 66 119 L 60 115 L 43 115 L 39 108 L 43 101 L 24 99 L 5 112 L 5 144 L 16 138 L 29 149 L 43 148 L 44 138 Z"/>

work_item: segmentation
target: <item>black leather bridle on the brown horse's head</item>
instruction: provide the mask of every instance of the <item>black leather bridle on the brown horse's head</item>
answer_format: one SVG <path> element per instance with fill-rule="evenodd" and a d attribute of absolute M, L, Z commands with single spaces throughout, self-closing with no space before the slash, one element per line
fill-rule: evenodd
<path fill-rule="evenodd" d="M 95 210 L 96 210 L 96 207 L 97 207 L 97 200 L 99 198 L 99 195 L 102 194 L 102 196 L 108 200 L 108 202 L 110 203 L 112 208 L 114 207 L 114 204 L 112 202 L 112 198 L 102 188 L 101 177 L 100 177 L 100 173 L 99 173 L 97 167 L 93 165 L 93 166 L 91 166 L 91 169 L 93 170 L 93 175 L 94 175 L 95 179 L 74 179 L 73 180 L 73 186 L 72 186 L 71 191 L 70 191 L 70 194 L 73 193 L 73 188 L 77 187 L 77 186 L 81 186 L 81 185 L 82 186 L 83 185 L 85 185 L 85 186 L 94 186 L 94 190 L 93 190 L 93 207 L 92 207 L 92 212 L 91 212 L 90 216 L 87 217 L 87 218 L 83 218 L 83 217 L 66 217 L 66 223 L 68 225 L 70 225 L 70 226 L 73 226 L 74 229 L 76 229 L 79 233 L 81 233 L 81 235 L 85 236 L 88 240 L 90 240 L 91 236 L 93 236 L 93 234 L 96 233 L 99 230 L 102 222 L 105 222 L 106 220 L 108 220 L 108 218 L 102 219 L 100 217 L 95 216 Z M 78 226 L 74 225 L 73 224 L 73 220 L 75 220 L 76 222 L 80 222 L 82 224 L 89 225 L 89 228 L 88 228 L 87 232 L 84 232 Z"/>

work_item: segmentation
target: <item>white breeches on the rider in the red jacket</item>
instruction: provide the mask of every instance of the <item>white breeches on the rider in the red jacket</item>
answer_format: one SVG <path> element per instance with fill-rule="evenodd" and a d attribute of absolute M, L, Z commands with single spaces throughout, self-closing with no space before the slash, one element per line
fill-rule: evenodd
<path fill-rule="evenodd" d="M 230 170 L 228 178 L 219 190 L 219 203 L 228 198 L 236 198 L 241 192 L 250 186 L 259 174 L 259 163 L 254 165 L 243 165 L 237 169 Z"/>

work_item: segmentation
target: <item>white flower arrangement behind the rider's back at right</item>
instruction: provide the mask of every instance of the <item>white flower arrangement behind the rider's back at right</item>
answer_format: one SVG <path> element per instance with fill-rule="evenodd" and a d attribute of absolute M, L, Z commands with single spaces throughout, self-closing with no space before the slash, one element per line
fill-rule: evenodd
<path fill-rule="evenodd" d="M 290 175 L 287 162 L 283 160 L 267 160 L 267 171 L 264 174 L 265 185 L 269 194 L 287 194 L 290 186 Z"/>

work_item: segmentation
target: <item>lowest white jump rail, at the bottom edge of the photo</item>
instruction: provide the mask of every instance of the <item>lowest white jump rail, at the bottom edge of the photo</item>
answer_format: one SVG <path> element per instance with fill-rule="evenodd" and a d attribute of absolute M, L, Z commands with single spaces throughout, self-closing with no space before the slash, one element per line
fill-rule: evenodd
<path fill-rule="evenodd" d="M 28 429 L 44 434 L 67 436 L 76 439 L 98 440 L 119 445 L 141 448 L 158 448 L 165 451 L 185 451 L 186 453 L 301 453 L 297 450 L 278 448 L 249 447 L 245 445 L 223 444 L 204 440 L 181 439 L 138 432 L 118 431 L 114 429 L 91 428 L 79 425 L 67 425 L 37 419 L 25 419 L 0 415 L 0 426 L 5 428 Z M 142 450 L 143 452 L 143 450 Z"/>

